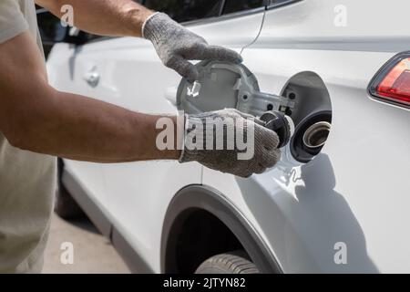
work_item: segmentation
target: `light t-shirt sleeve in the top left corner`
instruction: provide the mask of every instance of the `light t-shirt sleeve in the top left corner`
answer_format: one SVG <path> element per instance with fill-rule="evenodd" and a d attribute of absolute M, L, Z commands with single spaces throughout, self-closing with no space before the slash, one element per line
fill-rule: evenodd
<path fill-rule="evenodd" d="M 17 0 L 0 0 L 0 44 L 28 29 Z"/>

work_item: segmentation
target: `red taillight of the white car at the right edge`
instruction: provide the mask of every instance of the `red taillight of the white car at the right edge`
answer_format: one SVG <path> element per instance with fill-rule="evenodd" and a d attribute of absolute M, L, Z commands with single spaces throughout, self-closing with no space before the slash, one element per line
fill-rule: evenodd
<path fill-rule="evenodd" d="M 400 54 L 377 73 L 369 91 L 378 99 L 410 108 L 410 53 Z"/>

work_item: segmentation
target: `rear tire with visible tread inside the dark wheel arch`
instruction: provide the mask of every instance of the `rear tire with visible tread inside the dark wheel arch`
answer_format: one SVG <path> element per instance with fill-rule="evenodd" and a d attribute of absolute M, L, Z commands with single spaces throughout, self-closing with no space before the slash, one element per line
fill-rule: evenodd
<path fill-rule="evenodd" d="M 203 262 L 195 274 L 259 274 L 258 267 L 251 262 L 243 250 L 214 255 Z"/>

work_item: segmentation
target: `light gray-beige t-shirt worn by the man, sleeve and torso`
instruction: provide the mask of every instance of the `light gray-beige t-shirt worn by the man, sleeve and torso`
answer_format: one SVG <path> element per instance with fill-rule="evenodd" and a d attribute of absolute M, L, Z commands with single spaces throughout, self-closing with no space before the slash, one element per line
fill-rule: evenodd
<path fill-rule="evenodd" d="M 0 0 L 0 44 L 26 30 L 43 54 L 34 1 Z M 16 149 L 0 129 L 0 273 L 41 272 L 55 189 L 56 158 Z"/>

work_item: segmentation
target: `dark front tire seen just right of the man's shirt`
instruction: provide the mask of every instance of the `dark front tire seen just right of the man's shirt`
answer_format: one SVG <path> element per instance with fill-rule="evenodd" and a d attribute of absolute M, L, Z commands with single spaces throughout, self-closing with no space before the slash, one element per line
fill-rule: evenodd
<path fill-rule="evenodd" d="M 57 161 L 57 189 L 56 189 L 56 203 L 54 212 L 63 219 L 74 220 L 85 218 L 86 214 L 68 193 L 66 187 L 63 185 L 61 179 L 64 171 L 64 162 L 61 159 Z"/>

